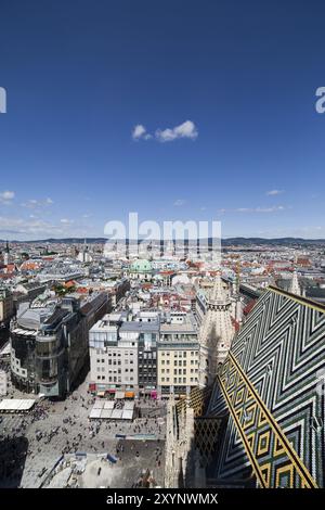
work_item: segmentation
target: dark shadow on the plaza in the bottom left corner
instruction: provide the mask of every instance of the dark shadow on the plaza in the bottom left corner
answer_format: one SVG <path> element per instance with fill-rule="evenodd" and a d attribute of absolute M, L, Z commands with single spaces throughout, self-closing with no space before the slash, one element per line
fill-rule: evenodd
<path fill-rule="evenodd" d="M 20 487 L 27 451 L 26 437 L 10 437 L 0 441 L 0 488 Z"/>

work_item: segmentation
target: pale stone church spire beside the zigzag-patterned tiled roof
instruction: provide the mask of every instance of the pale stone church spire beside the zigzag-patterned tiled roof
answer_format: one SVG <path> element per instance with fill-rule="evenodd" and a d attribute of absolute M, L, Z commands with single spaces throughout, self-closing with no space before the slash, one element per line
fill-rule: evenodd
<path fill-rule="evenodd" d="M 231 299 L 223 289 L 221 275 L 216 276 L 200 333 L 199 385 L 212 383 L 230 349 L 235 329 L 231 319 Z"/>

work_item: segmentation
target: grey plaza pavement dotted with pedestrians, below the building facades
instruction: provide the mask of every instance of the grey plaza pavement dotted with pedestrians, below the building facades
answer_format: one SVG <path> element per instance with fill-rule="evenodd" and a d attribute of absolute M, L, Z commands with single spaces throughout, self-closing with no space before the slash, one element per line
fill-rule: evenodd
<path fill-rule="evenodd" d="M 164 403 L 140 400 L 136 406 L 141 407 L 142 418 L 133 422 L 90 421 L 88 417 L 94 398 L 87 388 L 86 381 L 65 401 L 42 400 L 29 415 L 1 415 L 0 447 L 1 444 L 6 447 L 0 452 L 0 486 L 40 486 L 64 454 L 115 455 L 120 441 L 116 434 L 155 434 L 158 444 L 164 445 L 165 419 L 153 418 L 164 415 Z M 11 396 L 27 398 L 26 394 L 15 390 L 11 390 Z M 20 438 L 24 441 L 18 442 Z"/>

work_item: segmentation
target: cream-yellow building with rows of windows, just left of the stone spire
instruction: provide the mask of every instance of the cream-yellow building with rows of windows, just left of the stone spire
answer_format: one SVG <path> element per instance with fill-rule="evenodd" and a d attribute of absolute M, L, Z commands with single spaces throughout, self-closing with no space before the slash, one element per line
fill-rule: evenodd
<path fill-rule="evenodd" d="M 162 396 L 185 395 L 198 385 L 199 343 L 192 314 L 170 314 L 160 324 L 157 390 Z"/>

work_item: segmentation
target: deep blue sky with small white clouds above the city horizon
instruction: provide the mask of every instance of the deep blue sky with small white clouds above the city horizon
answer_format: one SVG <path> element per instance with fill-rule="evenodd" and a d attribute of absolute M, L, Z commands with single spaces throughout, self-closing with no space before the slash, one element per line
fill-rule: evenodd
<path fill-rule="evenodd" d="M 324 15 L 299 0 L 1 0 L 0 238 L 102 235 L 129 212 L 325 238 Z"/>

